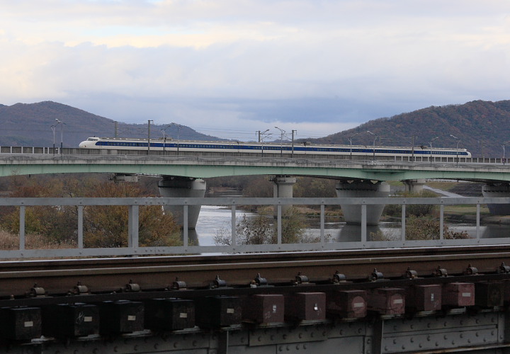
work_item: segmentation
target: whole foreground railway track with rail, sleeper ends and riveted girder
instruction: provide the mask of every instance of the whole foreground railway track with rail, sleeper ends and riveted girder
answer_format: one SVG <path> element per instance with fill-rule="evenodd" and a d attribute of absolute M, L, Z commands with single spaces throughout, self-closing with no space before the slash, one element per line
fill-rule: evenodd
<path fill-rule="evenodd" d="M 503 348 L 504 263 L 510 245 L 0 262 L 0 349 Z"/>

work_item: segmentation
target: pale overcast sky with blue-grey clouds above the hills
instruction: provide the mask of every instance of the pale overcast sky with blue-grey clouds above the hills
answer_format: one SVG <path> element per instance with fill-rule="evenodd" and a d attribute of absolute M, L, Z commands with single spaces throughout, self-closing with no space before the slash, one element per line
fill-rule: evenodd
<path fill-rule="evenodd" d="M 509 0 L 0 0 L 0 103 L 226 138 L 510 99 Z"/>

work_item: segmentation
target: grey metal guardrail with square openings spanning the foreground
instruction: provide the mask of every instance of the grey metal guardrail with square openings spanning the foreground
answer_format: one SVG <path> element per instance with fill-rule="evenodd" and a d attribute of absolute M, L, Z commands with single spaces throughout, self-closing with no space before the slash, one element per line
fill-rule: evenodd
<path fill-rule="evenodd" d="M 419 246 L 460 246 L 481 244 L 509 244 L 507 238 L 482 239 L 480 237 L 480 205 L 508 204 L 510 198 L 0 198 L 0 206 L 19 207 L 19 249 L 0 250 L 0 258 L 51 258 L 79 256 L 142 256 L 159 254 L 196 253 L 242 253 L 279 251 L 331 251 L 339 249 L 373 249 Z M 327 241 L 324 219 L 326 205 L 359 205 L 361 207 L 360 241 Z M 31 206 L 75 206 L 78 210 L 77 248 L 75 249 L 27 249 L 25 232 L 26 208 Z M 89 249 L 84 247 L 84 208 L 93 205 L 125 205 L 128 207 L 128 247 Z M 139 236 L 139 209 L 145 205 L 182 205 L 183 207 L 183 246 L 141 247 Z M 229 246 L 192 246 L 188 240 L 188 207 L 190 205 L 225 205 L 232 210 L 231 243 Z M 236 235 L 236 210 L 242 205 L 275 205 L 277 210 L 276 244 L 238 244 Z M 311 244 L 284 244 L 282 241 L 283 205 L 319 205 L 320 239 Z M 367 238 L 368 205 L 402 205 L 402 230 L 397 241 L 370 241 Z M 440 237 L 436 240 L 413 241 L 405 237 L 407 205 L 439 205 Z M 444 239 L 445 205 L 476 205 L 477 236 L 473 239 Z M 509 235 L 510 237 L 510 235 Z"/>

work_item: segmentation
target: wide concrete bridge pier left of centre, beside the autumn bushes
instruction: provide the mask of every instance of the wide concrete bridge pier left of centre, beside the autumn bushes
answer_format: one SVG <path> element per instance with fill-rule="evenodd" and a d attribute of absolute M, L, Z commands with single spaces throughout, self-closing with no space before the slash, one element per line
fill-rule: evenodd
<path fill-rule="evenodd" d="M 205 181 L 200 178 L 165 176 L 158 183 L 159 194 L 165 198 L 203 198 Z M 195 229 L 200 214 L 200 205 L 188 206 L 188 229 Z M 184 225 L 183 207 L 164 205 L 165 212 L 171 212 L 181 227 Z"/>

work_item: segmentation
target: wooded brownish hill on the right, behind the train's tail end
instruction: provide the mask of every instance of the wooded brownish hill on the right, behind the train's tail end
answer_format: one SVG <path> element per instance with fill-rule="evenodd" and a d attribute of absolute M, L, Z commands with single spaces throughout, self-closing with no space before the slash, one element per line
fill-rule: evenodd
<path fill-rule="evenodd" d="M 368 131 L 373 132 L 371 135 Z M 451 137 L 457 137 L 455 139 Z M 472 101 L 462 105 L 431 106 L 391 118 L 370 120 L 356 128 L 337 132 L 315 143 L 372 146 L 466 148 L 477 157 L 502 157 L 510 141 L 510 101 Z M 437 139 L 435 139 L 437 137 Z M 506 146 L 510 156 L 510 142 Z"/>

